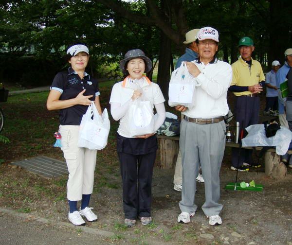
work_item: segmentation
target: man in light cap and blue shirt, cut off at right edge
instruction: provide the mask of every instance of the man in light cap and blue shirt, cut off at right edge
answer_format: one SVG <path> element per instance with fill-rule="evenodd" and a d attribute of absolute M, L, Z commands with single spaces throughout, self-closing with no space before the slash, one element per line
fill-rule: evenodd
<path fill-rule="evenodd" d="M 276 82 L 277 88 L 280 88 L 280 85 L 287 80 L 287 74 L 292 67 L 292 48 L 285 50 L 285 63 L 276 73 Z M 279 122 L 283 127 L 289 128 L 288 121 L 286 119 L 285 105 L 286 98 L 282 98 L 281 91 L 278 89 L 278 104 L 279 104 Z M 281 157 L 281 161 L 288 163 L 290 155 L 286 154 Z M 292 160 L 292 159 L 291 159 Z"/>

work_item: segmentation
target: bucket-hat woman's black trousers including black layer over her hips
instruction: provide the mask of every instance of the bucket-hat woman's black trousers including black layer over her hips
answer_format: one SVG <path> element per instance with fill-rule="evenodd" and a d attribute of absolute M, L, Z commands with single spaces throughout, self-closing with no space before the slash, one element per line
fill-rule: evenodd
<path fill-rule="evenodd" d="M 117 134 L 117 151 L 123 181 L 125 218 L 151 216 L 151 185 L 157 139 L 126 138 Z"/>

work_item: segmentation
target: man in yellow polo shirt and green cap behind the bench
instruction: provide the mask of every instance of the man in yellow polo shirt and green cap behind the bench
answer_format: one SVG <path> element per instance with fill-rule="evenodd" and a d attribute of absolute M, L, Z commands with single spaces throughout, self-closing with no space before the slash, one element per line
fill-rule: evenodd
<path fill-rule="evenodd" d="M 260 92 L 263 90 L 265 76 L 260 63 L 252 58 L 254 41 L 248 36 L 239 39 L 240 58 L 232 66 L 232 83 L 229 91 L 235 96 L 235 120 L 239 122 L 239 132 L 259 120 Z M 241 134 L 241 133 L 240 133 Z M 240 140 L 239 140 L 240 142 Z M 239 154 L 240 153 L 240 154 Z M 232 170 L 248 171 L 249 166 L 260 167 L 253 162 L 253 150 L 232 148 Z"/>

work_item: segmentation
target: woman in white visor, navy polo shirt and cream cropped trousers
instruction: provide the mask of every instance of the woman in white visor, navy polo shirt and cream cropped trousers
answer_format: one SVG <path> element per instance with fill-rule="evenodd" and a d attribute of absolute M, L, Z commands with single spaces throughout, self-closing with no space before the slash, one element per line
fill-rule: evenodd
<path fill-rule="evenodd" d="M 97 216 L 89 208 L 93 190 L 96 150 L 77 146 L 79 125 L 88 105 L 94 101 L 101 114 L 98 83 L 85 72 L 89 50 L 85 44 L 75 43 L 67 49 L 71 67 L 56 74 L 47 100 L 48 110 L 60 110 L 61 149 L 69 171 L 67 198 L 70 207 L 68 219 L 76 226 L 85 225 L 81 216 L 96 221 Z M 81 201 L 80 211 L 77 201 Z"/>

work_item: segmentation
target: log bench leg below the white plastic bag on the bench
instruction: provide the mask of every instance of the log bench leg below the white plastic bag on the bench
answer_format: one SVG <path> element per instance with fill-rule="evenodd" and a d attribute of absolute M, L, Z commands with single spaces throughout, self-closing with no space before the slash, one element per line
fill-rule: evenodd
<path fill-rule="evenodd" d="M 275 152 L 265 153 L 265 174 L 275 179 L 282 179 L 287 175 L 285 164 Z"/>

